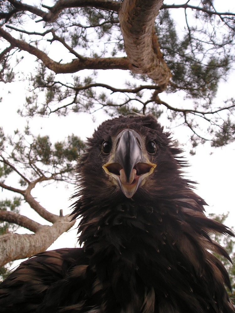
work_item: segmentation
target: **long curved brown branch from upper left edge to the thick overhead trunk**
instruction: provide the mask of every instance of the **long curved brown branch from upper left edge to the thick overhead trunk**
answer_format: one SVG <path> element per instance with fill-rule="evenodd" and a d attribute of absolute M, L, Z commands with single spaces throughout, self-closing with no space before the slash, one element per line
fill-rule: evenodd
<path fill-rule="evenodd" d="M 131 69 L 132 66 L 127 58 L 83 58 L 74 59 L 70 63 L 59 63 L 50 59 L 49 56 L 38 48 L 26 43 L 25 41 L 13 38 L 9 33 L 0 27 L 0 36 L 5 38 L 12 47 L 17 47 L 27 51 L 40 59 L 48 69 L 56 74 L 76 73 L 82 69 Z"/>

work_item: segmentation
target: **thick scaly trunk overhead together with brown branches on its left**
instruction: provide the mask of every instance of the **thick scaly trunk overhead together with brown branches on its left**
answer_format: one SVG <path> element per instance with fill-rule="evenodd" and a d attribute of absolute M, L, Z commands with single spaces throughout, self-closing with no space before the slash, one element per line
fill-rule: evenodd
<path fill-rule="evenodd" d="M 162 0 L 148 0 L 143 2 L 123 1 L 119 18 L 123 32 L 126 53 L 128 58 L 85 58 L 77 56 L 74 51 L 65 45 L 67 49 L 76 55 L 76 59 L 70 63 L 62 64 L 50 59 L 46 53 L 39 50 L 25 41 L 13 38 L 9 33 L 0 28 L 0 36 L 5 38 L 12 47 L 17 47 L 35 55 L 46 65 L 47 68 L 59 73 L 76 73 L 82 69 L 131 69 L 135 73 L 148 75 L 155 83 L 164 90 L 170 78 L 170 70 L 168 69 L 159 49 L 158 39 L 154 33 L 154 20 L 162 5 Z M 45 7 L 49 10 L 46 13 L 37 7 L 11 0 L 10 3 L 18 10 L 26 10 L 41 16 L 44 21 L 52 21 L 57 18 L 58 14 L 64 8 L 72 7 L 96 7 L 102 9 L 120 9 L 120 3 L 115 1 L 57 1 L 53 7 Z M 54 34 L 53 40 L 59 40 Z M 61 41 L 61 39 L 60 39 Z"/>

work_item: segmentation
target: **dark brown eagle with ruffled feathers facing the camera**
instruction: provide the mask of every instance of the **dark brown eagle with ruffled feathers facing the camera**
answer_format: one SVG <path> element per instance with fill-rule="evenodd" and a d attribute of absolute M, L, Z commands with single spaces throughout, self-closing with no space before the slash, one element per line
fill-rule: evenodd
<path fill-rule="evenodd" d="M 227 252 L 153 115 L 119 116 L 88 139 L 73 218 L 80 248 L 46 251 L 0 285 L 0 312 L 234 313 Z M 230 260 L 231 261 L 231 260 Z"/>

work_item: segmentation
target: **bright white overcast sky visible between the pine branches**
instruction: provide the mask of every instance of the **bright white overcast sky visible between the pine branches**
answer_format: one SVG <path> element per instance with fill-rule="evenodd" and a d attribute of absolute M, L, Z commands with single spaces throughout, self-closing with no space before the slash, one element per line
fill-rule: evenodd
<path fill-rule="evenodd" d="M 224 2 L 223 2 L 224 3 Z M 26 60 L 27 61 L 27 60 Z M 30 72 L 30 70 L 29 70 Z M 105 76 L 107 80 L 123 79 L 123 72 L 119 71 L 120 75 L 116 76 L 117 72 L 103 71 L 101 76 Z M 114 85 L 114 84 L 112 84 Z M 11 90 L 11 93 L 8 91 Z M 16 111 L 19 106 L 22 106 L 26 95 L 26 86 L 24 82 L 14 84 L 3 84 L 0 82 L 0 95 L 3 96 L 3 101 L 0 102 L 0 126 L 6 133 L 12 134 L 16 128 L 23 129 L 26 125 L 24 118 L 20 117 Z M 227 82 L 220 85 L 217 95 L 218 103 L 227 98 L 234 97 L 234 74 L 232 73 Z M 165 98 L 164 98 L 165 97 Z M 184 100 L 177 95 L 161 95 L 161 99 L 170 104 L 182 104 Z M 79 115 L 70 115 L 68 117 L 58 117 L 51 115 L 49 118 L 34 117 L 29 119 L 29 125 L 35 135 L 47 135 L 50 133 L 51 141 L 62 140 L 64 137 L 74 133 L 82 139 L 92 135 L 94 128 L 103 120 L 107 119 L 102 111 L 97 112 L 96 122 L 92 121 L 92 116 L 81 113 Z M 162 121 L 164 124 L 164 121 Z M 185 143 L 185 130 L 175 129 L 179 141 Z M 176 138 L 175 137 L 175 138 Z M 186 145 L 185 156 L 189 159 L 191 167 L 186 170 L 192 180 L 198 182 L 197 193 L 206 200 L 210 207 L 206 208 L 206 213 L 227 213 L 230 212 L 227 219 L 229 227 L 235 226 L 235 208 L 234 208 L 234 192 L 235 192 L 235 144 L 228 145 L 223 148 L 212 149 L 209 146 L 199 146 L 196 150 L 196 156 L 190 156 L 190 146 Z M 210 154 L 213 152 L 212 154 Z M 47 209 L 53 213 L 59 214 L 60 209 L 64 210 L 64 214 L 69 213 L 70 195 L 73 193 L 73 186 L 68 190 L 56 187 L 55 184 L 49 187 L 36 187 L 33 195 Z M 10 197 L 10 193 L 1 192 L 0 199 Z M 27 204 L 23 206 L 22 214 L 28 214 Z M 31 213 L 30 213 L 31 214 Z M 35 219 L 38 219 L 37 214 L 33 214 Z M 60 236 L 49 249 L 62 247 L 74 247 L 76 244 L 76 230 L 69 231 Z"/>

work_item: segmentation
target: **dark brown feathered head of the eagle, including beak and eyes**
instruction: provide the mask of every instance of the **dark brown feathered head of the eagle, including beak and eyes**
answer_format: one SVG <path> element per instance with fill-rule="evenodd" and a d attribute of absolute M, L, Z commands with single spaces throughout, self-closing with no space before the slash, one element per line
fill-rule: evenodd
<path fill-rule="evenodd" d="M 180 180 L 182 161 L 175 157 L 180 152 L 153 115 L 105 121 L 88 139 L 81 158 L 83 192 L 87 189 L 91 194 L 92 190 L 96 199 L 109 201 L 115 195 L 137 199 L 143 193 L 150 198 L 169 194 L 177 185 L 176 178 Z"/>

